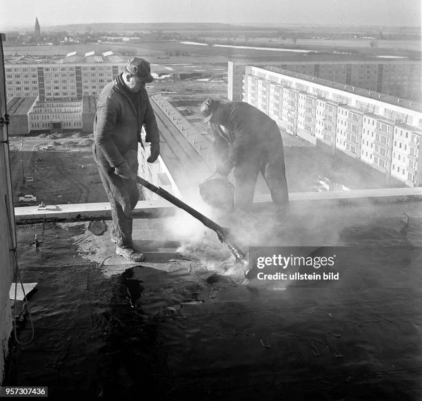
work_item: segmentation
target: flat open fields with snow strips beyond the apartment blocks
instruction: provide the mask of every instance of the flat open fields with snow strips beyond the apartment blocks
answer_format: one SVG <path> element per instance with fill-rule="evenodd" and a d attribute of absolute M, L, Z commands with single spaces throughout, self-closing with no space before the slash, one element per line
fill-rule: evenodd
<path fill-rule="evenodd" d="M 207 39 L 207 38 L 205 38 Z M 6 46 L 5 55 L 66 55 L 68 52 L 80 51 L 88 52 L 95 50 L 97 52 L 106 52 L 112 50 L 121 54 L 139 55 L 149 58 L 150 61 L 165 59 L 165 63 L 171 62 L 197 62 L 197 63 L 219 63 L 226 62 L 227 59 L 257 59 L 260 61 L 282 61 L 282 60 L 326 60 L 338 59 L 339 61 L 353 59 L 367 59 L 376 56 L 401 56 L 401 57 L 420 57 L 420 41 L 387 41 L 376 40 L 373 46 L 370 39 L 297 39 L 294 44 L 291 39 L 272 39 L 268 41 L 265 38 L 249 39 L 212 39 L 212 43 L 225 43 L 234 46 L 270 46 L 273 48 L 291 48 L 300 50 L 312 50 L 311 55 L 297 54 L 290 51 L 274 52 L 272 50 L 251 50 L 221 48 L 215 46 L 196 46 L 193 44 L 183 44 L 179 41 L 154 41 L 139 43 L 90 43 L 82 45 L 66 46 Z M 346 52 L 351 54 L 338 54 Z M 274 54 L 275 53 L 275 54 Z M 179 56 L 176 56 L 179 54 Z M 159 59 L 155 59 L 160 57 Z"/>

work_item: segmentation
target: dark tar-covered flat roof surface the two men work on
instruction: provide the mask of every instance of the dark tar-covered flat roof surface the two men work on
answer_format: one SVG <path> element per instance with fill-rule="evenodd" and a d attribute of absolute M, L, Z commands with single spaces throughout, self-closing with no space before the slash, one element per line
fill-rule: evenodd
<path fill-rule="evenodd" d="M 35 337 L 3 385 L 61 399 L 419 400 L 421 217 L 420 202 L 217 217 L 241 246 L 348 246 L 340 280 L 304 283 L 243 282 L 183 215 L 134 221 L 141 264 L 88 222 L 19 226 Z"/>

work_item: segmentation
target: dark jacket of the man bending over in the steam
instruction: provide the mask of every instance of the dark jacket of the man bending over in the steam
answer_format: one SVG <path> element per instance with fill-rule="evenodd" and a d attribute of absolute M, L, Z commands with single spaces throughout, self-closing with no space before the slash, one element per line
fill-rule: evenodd
<path fill-rule="evenodd" d="M 221 107 L 228 111 L 225 126 L 230 133 L 224 133 L 218 124 L 211 124 L 214 134 L 214 150 L 223 163 L 232 165 L 258 153 L 279 153 L 283 157 L 283 141 L 277 123 L 265 113 L 243 101 L 233 101 Z"/>

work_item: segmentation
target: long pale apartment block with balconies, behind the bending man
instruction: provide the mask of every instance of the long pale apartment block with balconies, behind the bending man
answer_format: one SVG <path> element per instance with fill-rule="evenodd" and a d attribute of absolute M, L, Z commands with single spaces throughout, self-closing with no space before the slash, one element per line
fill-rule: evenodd
<path fill-rule="evenodd" d="M 422 104 L 254 66 L 245 68 L 243 86 L 243 100 L 286 133 L 361 160 L 384 173 L 387 182 L 394 177 L 422 185 Z"/>

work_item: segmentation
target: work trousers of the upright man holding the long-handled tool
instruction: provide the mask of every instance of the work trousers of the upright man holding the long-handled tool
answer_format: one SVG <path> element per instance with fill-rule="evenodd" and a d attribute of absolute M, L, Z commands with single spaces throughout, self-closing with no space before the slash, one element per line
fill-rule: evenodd
<path fill-rule="evenodd" d="M 138 164 L 128 160 L 131 170 L 137 174 Z M 132 248 L 132 212 L 139 200 L 139 190 L 134 179 L 125 179 L 114 173 L 114 168 L 104 168 L 97 163 L 101 182 L 106 189 L 112 213 L 110 235 L 117 246 Z"/>

